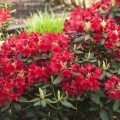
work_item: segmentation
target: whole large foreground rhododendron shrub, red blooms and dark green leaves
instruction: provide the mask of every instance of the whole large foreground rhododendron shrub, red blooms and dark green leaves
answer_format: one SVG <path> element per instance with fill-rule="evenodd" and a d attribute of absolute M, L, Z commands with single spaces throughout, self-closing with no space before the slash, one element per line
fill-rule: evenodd
<path fill-rule="evenodd" d="M 1 116 L 119 119 L 120 26 L 115 20 L 93 7 L 76 8 L 61 34 L 11 36 L 0 49 Z"/>

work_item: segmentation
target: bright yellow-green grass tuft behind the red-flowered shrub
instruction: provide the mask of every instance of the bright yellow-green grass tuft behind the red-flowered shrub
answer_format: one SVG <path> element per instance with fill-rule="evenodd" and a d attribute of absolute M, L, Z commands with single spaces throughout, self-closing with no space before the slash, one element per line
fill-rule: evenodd
<path fill-rule="evenodd" d="M 42 13 L 38 11 L 36 14 L 31 14 L 31 18 L 27 21 L 27 28 L 25 29 L 28 33 L 40 32 L 42 34 L 47 33 L 61 33 L 64 25 L 65 16 L 56 16 L 53 12 Z M 31 22 L 32 21 L 32 22 Z"/>

